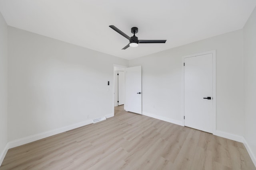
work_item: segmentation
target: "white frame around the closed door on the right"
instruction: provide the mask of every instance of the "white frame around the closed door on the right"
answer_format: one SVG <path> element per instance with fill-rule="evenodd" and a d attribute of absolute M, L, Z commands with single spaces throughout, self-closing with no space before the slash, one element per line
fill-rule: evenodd
<path fill-rule="evenodd" d="M 182 125 L 185 126 L 184 61 L 186 58 L 189 58 L 189 57 L 196 57 L 199 55 L 206 55 L 206 54 L 212 54 L 212 133 L 214 134 L 216 132 L 216 50 L 197 53 L 193 55 L 187 55 L 182 57 L 182 120 L 183 120 Z"/>

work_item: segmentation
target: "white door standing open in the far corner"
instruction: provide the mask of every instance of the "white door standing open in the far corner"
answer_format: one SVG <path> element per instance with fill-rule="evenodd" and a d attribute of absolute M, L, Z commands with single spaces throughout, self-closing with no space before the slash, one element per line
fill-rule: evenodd
<path fill-rule="evenodd" d="M 126 111 L 142 114 L 142 74 L 141 66 L 128 67 L 125 70 Z"/>

